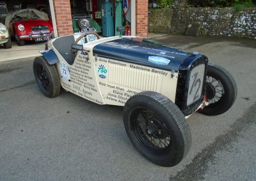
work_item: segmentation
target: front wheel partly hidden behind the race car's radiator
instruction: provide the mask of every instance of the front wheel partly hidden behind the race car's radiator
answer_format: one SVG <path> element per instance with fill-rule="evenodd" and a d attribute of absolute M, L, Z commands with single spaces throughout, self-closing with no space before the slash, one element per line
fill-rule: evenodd
<path fill-rule="evenodd" d="M 220 115 L 227 112 L 236 101 L 237 86 L 234 77 L 221 66 L 209 64 L 205 83 L 207 102 L 201 113 Z"/>

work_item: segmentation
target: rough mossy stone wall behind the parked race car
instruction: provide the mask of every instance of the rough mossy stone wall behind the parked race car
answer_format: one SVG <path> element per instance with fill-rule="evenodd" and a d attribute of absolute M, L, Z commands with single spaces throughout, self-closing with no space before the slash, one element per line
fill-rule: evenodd
<path fill-rule="evenodd" d="M 200 24 L 200 34 L 256 38 L 256 8 L 163 8 L 152 10 L 149 33 L 186 34 Z"/>

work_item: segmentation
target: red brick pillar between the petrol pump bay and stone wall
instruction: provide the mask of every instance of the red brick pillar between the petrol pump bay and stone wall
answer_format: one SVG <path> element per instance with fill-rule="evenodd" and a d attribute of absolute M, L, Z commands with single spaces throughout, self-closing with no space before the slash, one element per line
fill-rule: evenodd
<path fill-rule="evenodd" d="M 148 0 L 136 0 L 136 35 L 148 34 Z"/>

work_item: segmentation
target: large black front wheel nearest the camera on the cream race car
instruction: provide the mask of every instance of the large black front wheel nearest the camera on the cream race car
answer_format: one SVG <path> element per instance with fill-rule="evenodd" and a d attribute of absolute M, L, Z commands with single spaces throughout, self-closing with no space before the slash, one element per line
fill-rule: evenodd
<path fill-rule="evenodd" d="M 124 106 L 125 130 L 140 154 L 159 166 L 175 166 L 191 146 L 191 132 L 179 108 L 162 94 L 141 92 Z"/>

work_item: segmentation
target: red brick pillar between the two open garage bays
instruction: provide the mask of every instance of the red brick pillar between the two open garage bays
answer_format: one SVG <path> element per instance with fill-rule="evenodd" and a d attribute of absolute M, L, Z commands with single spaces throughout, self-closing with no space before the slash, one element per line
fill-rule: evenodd
<path fill-rule="evenodd" d="M 58 36 L 72 34 L 70 0 L 53 0 Z"/>

